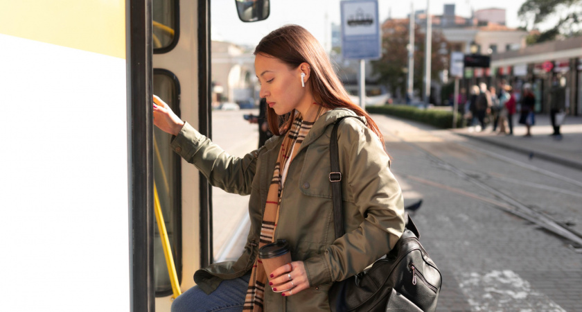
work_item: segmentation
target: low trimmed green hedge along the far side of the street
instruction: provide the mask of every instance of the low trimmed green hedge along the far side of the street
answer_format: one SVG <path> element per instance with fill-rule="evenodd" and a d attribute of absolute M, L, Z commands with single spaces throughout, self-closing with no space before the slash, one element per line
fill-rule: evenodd
<path fill-rule="evenodd" d="M 401 117 L 434 125 L 436 128 L 452 128 L 452 112 L 446 110 L 424 110 L 409 105 L 367 106 L 366 110 L 370 114 L 385 114 Z M 457 128 L 461 128 L 463 123 L 462 116 L 457 114 Z"/>

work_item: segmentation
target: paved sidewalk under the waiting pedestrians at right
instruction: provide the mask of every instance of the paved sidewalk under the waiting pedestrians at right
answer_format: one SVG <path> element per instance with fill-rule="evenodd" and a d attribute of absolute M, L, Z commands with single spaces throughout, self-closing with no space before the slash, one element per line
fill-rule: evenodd
<path fill-rule="evenodd" d="M 531 157 L 546 159 L 582 170 L 581 116 L 566 117 L 564 125 L 560 128 L 560 132 L 563 135 L 560 141 L 550 136 L 554 130 L 549 121 L 549 115 L 536 115 L 536 125 L 531 127 L 531 137 L 524 137 L 526 128 L 525 125 L 517 123 L 518 119 L 518 114 L 515 114 L 513 116 L 513 136 L 497 135 L 497 133 L 491 132 L 493 129 L 491 124 L 482 132 L 470 132 L 468 128 L 451 131 L 457 135 L 478 139 L 488 144 L 525 153 Z"/>

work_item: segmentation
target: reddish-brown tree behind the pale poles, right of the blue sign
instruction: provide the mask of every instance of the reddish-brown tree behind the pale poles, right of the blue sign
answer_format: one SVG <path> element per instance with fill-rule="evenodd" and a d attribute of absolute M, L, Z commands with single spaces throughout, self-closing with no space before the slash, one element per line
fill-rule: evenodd
<path fill-rule="evenodd" d="M 372 62 L 374 73 L 379 75 L 391 94 L 404 97 L 408 75 L 409 20 L 389 19 L 382 24 L 382 57 Z M 444 45 L 444 46 L 443 46 Z M 448 55 L 439 54 L 444 47 L 450 51 L 450 44 L 439 31 L 432 33 L 431 78 L 439 79 L 439 72 L 448 68 Z M 416 25 L 414 29 L 414 89 L 423 88 L 425 64 L 425 33 Z M 421 92 L 422 93 L 422 92 Z"/>

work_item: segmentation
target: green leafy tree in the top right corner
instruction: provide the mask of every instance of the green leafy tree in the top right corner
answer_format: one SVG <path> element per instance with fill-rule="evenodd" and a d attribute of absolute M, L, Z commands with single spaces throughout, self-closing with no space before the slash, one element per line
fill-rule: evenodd
<path fill-rule="evenodd" d="M 518 15 L 527 30 L 552 22 L 547 30 L 529 35 L 528 44 L 582 35 L 582 0 L 526 0 Z"/>

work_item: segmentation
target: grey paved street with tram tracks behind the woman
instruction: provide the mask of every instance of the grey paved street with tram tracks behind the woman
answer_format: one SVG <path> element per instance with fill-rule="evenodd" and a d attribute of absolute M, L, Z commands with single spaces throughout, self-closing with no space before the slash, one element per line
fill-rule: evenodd
<path fill-rule="evenodd" d="M 213 112 L 213 140 L 231 155 L 256 148 L 249 112 L 257 113 Z M 449 130 L 373 119 L 405 204 L 423 200 L 409 214 L 443 276 L 437 311 L 582 311 L 582 171 Z M 213 189 L 214 229 L 224 229 L 214 234 L 215 259 L 240 254 L 247 200 Z"/>

